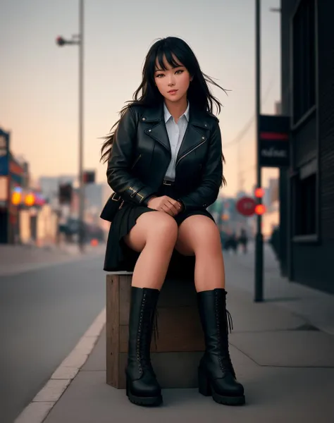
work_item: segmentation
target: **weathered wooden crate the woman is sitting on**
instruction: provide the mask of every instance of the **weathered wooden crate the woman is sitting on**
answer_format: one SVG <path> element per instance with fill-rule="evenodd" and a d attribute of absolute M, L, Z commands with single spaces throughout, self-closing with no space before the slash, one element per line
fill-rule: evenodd
<path fill-rule="evenodd" d="M 106 276 L 106 382 L 125 388 L 132 273 Z M 151 362 L 162 388 L 197 387 L 204 352 L 194 282 L 167 279 L 158 302 L 159 338 L 151 342 Z"/>

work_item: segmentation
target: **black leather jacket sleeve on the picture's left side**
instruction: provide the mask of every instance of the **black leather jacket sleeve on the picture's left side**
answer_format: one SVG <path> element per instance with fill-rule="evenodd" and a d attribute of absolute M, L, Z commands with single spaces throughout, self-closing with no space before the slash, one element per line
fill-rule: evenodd
<path fill-rule="evenodd" d="M 106 176 L 111 189 L 120 194 L 123 200 L 147 205 L 154 189 L 131 174 L 137 125 L 135 113 L 129 107 L 118 123 Z"/>

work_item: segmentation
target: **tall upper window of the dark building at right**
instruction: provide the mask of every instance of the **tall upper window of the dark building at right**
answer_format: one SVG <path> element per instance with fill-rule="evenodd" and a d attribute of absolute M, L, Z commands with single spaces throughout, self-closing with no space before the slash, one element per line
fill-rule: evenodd
<path fill-rule="evenodd" d="M 293 119 L 316 104 L 315 0 L 302 0 L 292 20 Z"/>

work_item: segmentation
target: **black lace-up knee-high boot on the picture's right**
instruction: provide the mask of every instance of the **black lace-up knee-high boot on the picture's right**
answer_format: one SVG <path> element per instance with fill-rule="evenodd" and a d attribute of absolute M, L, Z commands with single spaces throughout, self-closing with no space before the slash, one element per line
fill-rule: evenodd
<path fill-rule="evenodd" d="M 226 291 L 222 288 L 197 293 L 199 315 L 206 350 L 199 363 L 199 393 L 212 396 L 216 403 L 245 403 L 244 388 L 235 377 L 228 351 L 230 314 L 226 310 Z"/>

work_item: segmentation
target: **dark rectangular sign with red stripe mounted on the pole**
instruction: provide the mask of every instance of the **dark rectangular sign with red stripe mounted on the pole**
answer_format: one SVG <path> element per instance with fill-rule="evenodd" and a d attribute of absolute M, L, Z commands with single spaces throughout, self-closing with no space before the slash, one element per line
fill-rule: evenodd
<path fill-rule="evenodd" d="M 259 149 L 261 167 L 290 165 L 290 118 L 260 115 Z"/>

